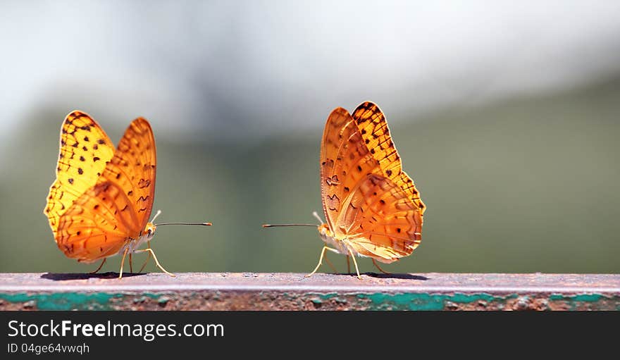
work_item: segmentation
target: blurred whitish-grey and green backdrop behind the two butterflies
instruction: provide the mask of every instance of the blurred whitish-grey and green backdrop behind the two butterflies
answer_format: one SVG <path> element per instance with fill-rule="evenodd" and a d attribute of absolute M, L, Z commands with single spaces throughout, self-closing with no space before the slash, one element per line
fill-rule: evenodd
<path fill-rule="evenodd" d="M 318 232 L 261 224 L 315 222 L 325 119 L 372 100 L 428 206 L 385 270 L 620 272 L 620 6 L 428 3 L 3 2 L 0 271 L 97 266 L 42 213 L 77 108 L 148 118 L 158 221 L 213 222 L 158 229 L 169 271 L 309 272 Z"/>

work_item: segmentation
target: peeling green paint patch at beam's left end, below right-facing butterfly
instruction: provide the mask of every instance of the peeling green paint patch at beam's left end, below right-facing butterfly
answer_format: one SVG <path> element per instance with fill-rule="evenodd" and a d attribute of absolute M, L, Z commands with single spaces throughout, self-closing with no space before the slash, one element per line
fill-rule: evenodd
<path fill-rule="evenodd" d="M 123 297 L 123 294 L 106 294 L 104 292 L 80 293 L 64 292 L 54 294 L 0 294 L 0 299 L 7 302 L 30 303 L 39 310 L 109 310 L 110 300 Z"/>

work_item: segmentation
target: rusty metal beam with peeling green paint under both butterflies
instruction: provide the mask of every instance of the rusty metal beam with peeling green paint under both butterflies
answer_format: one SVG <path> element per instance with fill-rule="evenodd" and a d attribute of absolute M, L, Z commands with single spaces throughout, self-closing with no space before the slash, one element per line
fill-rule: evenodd
<path fill-rule="evenodd" d="M 620 310 L 616 274 L 0 274 L 0 310 Z"/>

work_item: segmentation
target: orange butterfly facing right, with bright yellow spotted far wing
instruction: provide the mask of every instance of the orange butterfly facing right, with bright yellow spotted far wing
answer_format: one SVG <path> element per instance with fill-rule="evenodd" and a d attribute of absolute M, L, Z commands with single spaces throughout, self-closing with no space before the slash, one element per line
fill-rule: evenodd
<path fill-rule="evenodd" d="M 132 121 L 118 148 L 87 113 L 73 111 L 61 128 L 56 181 L 49 188 L 44 210 L 58 249 L 69 258 L 91 263 L 123 254 L 149 252 L 157 225 L 148 221 L 153 207 L 156 170 L 155 138 L 144 118 Z M 178 225 L 166 223 L 159 225 Z M 187 224 L 211 225 L 211 223 Z M 147 249 L 138 247 L 147 242 Z"/>

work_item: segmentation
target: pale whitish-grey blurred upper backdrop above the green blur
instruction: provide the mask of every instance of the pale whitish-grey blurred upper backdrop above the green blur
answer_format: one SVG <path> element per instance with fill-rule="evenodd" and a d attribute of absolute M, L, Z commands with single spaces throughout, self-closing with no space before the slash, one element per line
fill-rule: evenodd
<path fill-rule="evenodd" d="M 411 114 L 409 120 L 454 103 L 554 92 L 620 70 L 618 1 L 1 7 L 2 144 L 35 106 L 105 111 L 122 123 L 157 118 L 159 136 L 187 137 L 199 127 L 254 138 L 321 129 L 315 108 L 323 117 L 370 97 Z"/>

